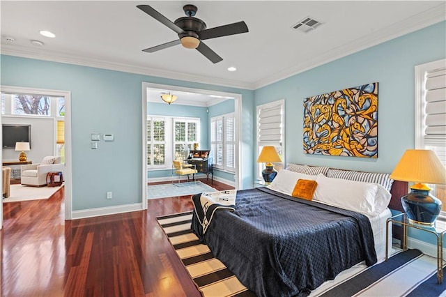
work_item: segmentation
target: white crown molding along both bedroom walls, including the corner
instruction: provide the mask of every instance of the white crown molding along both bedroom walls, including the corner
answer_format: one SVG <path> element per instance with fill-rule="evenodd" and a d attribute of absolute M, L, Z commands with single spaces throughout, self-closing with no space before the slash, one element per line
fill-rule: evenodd
<path fill-rule="evenodd" d="M 19 47 L 2 45 L 1 54 L 7 54 L 11 56 L 21 56 L 30 59 L 40 59 L 45 61 L 54 61 L 60 63 L 69 63 L 80 66 L 88 66 L 95 68 L 103 68 L 108 70 L 122 71 L 125 73 L 135 73 L 139 75 L 148 75 L 153 77 L 163 77 L 167 79 L 178 79 L 186 82 L 197 82 L 201 84 L 212 84 L 218 86 L 229 86 L 238 89 L 255 90 L 268 84 L 278 82 L 279 80 L 286 79 L 298 73 L 310 70 L 317 66 L 321 66 L 325 63 L 340 59 L 344 56 L 354 54 L 361 50 L 365 50 L 374 45 L 384 43 L 386 41 L 398 38 L 400 36 L 412 33 L 414 31 L 431 26 L 439 22 L 446 20 L 446 2 L 442 1 L 440 5 L 426 10 L 422 13 L 414 15 L 412 17 L 387 26 L 384 29 L 380 29 L 373 34 L 367 34 L 361 38 L 357 38 L 349 43 L 345 43 L 334 49 L 330 49 L 323 54 L 318 55 L 314 59 L 309 59 L 305 63 L 300 63 L 289 68 L 285 68 L 273 75 L 264 77 L 256 82 L 240 82 L 230 79 L 220 79 L 217 77 L 203 77 L 201 75 L 191 75 L 187 73 L 178 73 L 175 71 L 162 70 L 158 68 L 141 67 L 132 65 L 130 63 L 118 63 L 112 61 L 105 61 L 93 56 L 79 57 L 74 54 L 67 54 L 61 52 L 49 52 L 47 50 L 38 50 L 35 48 Z"/>

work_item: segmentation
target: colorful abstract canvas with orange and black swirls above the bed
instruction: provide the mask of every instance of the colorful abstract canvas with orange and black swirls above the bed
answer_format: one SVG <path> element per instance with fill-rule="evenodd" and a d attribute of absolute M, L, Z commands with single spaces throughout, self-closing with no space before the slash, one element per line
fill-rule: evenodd
<path fill-rule="evenodd" d="M 378 82 L 304 100 L 304 153 L 378 158 Z"/>

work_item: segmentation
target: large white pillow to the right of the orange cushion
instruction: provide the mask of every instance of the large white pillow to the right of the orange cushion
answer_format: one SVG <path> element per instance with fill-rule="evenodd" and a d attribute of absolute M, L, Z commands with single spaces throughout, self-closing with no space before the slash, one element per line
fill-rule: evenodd
<path fill-rule="evenodd" d="M 390 203 L 390 192 L 377 183 L 348 181 L 319 174 L 314 201 L 356 211 L 374 217 L 382 213 Z"/>

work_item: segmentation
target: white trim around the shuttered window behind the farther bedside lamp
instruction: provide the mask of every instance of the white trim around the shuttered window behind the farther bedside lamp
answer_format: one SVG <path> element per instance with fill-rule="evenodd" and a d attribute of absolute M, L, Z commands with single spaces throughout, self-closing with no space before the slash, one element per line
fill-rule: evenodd
<path fill-rule="evenodd" d="M 285 165 L 285 100 L 281 99 L 281 100 L 276 100 L 276 101 L 272 101 L 272 102 L 268 102 L 262 105 L 257 105 L 256 107 L 256 155 L 255 155 L 255 160 L 254 162 L 257 162 L 257 157 L 260 154 L 260 147 L 261 146 L 277 146 L 277 143 L 271 142 L 271 143 L 265 143 L 263 142 L 262 144 L 260 144 L 259 142 L 259 110 L 260 109 L 266 109 L 266 108 L 270 108 L 270 107 L 275 107 L 276 105 L 282 105 L 282 144 L 280 145 L 280 147 L 282 148 L 282 165 Z M 260 179 L 262 180 L 263 177 L 261 175 L 262 170 L 264 169 L 264 165 L 263 163 L 256 163 L 256 179 Z"/>

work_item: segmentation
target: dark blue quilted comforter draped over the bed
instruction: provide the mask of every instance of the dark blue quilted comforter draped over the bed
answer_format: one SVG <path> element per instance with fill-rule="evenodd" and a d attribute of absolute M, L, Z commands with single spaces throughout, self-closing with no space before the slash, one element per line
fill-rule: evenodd
<path fill-rule="evenodd" d="M 192 229 L 257 296 L 307 296 L 361 261 L 376 263 L 366 216 L 268 188 L 239 190 L 236 211 L 216 211 L 204 235 L 194 213 Z"/>

